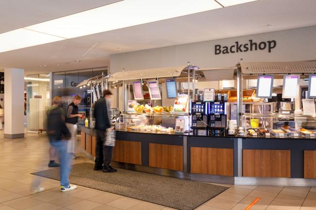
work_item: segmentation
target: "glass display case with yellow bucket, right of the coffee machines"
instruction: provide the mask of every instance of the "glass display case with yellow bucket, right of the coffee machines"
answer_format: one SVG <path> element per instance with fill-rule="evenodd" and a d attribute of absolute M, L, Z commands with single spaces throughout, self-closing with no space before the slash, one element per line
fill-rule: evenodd
<path fill-rule="evenodd" d="M 316 137 L 316 115 L 246 113 L 242 119 L 247 136 Z"/>

